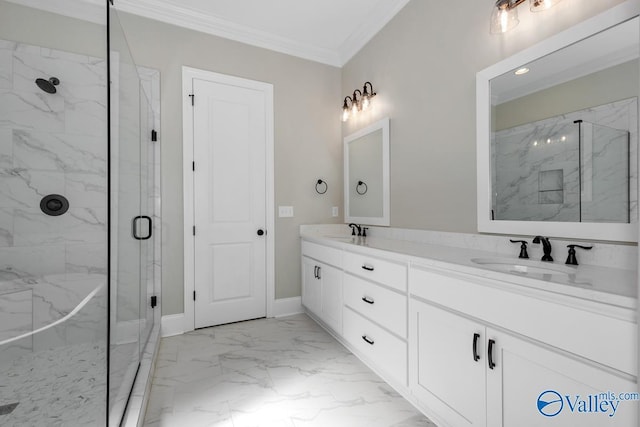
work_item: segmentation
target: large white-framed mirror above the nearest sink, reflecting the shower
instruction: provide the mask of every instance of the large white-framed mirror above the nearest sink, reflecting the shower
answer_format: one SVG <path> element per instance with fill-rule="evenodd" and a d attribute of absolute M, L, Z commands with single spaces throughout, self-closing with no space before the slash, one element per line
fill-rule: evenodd
<path fill-rule="evenodd" d="M 624 3 L 477 74 L 478 231 L 637 241 L 637 14 Z"/>

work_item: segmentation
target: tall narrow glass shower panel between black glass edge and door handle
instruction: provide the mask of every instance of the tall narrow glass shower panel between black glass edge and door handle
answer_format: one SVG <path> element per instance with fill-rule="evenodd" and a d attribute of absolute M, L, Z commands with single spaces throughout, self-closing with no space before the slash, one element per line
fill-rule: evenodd
<path fill-rule="evenodd" d="M 141 86 L 118 15 L 110 13 L 111 318 L 109 425 L 118 426 L 140 363 Z M 146 119 L 146 118 L 145 118 Z"/>

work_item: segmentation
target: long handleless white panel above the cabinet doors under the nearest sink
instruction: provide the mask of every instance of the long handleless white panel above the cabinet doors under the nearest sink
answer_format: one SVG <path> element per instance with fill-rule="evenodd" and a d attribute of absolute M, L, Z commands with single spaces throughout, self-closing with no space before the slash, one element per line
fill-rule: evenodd
<path fill-rule="evenodd" d="M 638 371 L 632 321 L 500 289 L 489 279 L 421 267 L 410 277 L 411 295 L 628 374 Z"/>

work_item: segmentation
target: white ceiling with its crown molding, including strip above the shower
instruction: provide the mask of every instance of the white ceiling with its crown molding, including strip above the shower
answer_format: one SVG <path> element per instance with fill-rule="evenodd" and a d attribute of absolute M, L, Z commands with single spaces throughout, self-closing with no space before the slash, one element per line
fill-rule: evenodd
<path fill-rule="evenodd" d="M 7 0 L 104 24 L 105 0 Z M 410 0 L 113 0 L 118 11 L 343 66 Z"/>

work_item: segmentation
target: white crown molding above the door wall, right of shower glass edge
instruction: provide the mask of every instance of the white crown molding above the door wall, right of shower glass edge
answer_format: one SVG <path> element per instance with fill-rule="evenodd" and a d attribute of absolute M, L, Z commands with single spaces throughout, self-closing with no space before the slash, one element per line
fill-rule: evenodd
<path fill-rule="evenodd" d="M 213 15 L 183 8 L 167 1 L 116 0 L 115 7 L 117 10 L 123 12 L 201 31 L 252 46 L 274 50 L 335 67 L 342 65 L 338 53 L 331 49 L 320 48 L 276 36 L 271 33 L 232 23 Z"/>

